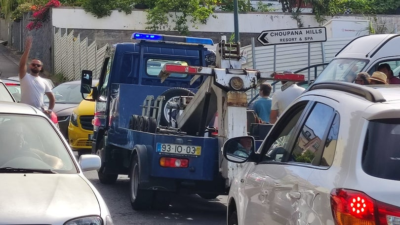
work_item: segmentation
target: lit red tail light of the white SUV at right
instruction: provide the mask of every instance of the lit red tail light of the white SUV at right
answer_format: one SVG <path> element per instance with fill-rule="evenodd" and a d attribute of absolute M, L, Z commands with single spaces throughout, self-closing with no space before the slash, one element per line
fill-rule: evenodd
<path fill-rule="evenodd" d="M 336 225 L 400 225 L 400 208 L 376 201 L 365 193 L 343 188 L 330 193 Z"/>

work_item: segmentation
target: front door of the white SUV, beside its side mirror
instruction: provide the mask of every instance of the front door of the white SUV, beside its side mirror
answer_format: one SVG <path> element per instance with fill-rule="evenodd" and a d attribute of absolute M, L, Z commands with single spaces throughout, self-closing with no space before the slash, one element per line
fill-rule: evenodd
<path fill-rule="evenodd" d="M 260 161 L 249 169 L 242 190 L 245 198 L 243 224 L 268 224 L 272 221 L 268 215 L 268 208 L 273 200 L 268 196 L 269 188 L 275 181 L 282 180 L 284 183 L 291 179 L 287 170 L 290 168 L 284 168 L 280 163 L 283 158 L 281 150 L 290 150 L 289 146 L 292 145 L 290 142 L 295 137 L 296 129 L 307 111 L 308 104 L 309 99 L 306 98 L 282 114 L 260 146 L 258 150 L 261 151 Z M 267 155 L 270 149 L 278 149 L 274 153 L 274 158 Z"/>

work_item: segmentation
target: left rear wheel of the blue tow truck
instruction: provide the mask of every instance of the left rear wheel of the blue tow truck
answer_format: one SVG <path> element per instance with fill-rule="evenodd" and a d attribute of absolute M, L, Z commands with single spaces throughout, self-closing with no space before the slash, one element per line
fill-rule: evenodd
<path fill-rule="evenodd" d="M 134 210 L 150 209 L 153 203 L 154 192 L 152 190 L 140 189 L 140 168 L 138 156 L 134 155 L 129 179 L 130 204 Z"/>

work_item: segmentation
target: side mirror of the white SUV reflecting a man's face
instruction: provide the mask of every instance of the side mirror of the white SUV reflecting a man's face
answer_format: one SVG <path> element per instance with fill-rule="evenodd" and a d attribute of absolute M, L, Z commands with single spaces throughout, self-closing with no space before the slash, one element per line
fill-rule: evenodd
<path fill-rule="evenodd" d="M 252 136 L 230 138 L 222 146 L 222 153 L 230 162 L 243 163 L 254 152 L 254 143 L 255 141 Z"/>

